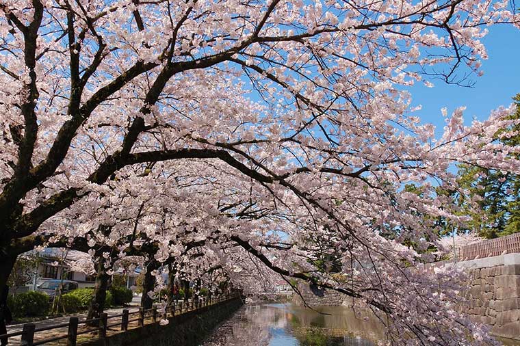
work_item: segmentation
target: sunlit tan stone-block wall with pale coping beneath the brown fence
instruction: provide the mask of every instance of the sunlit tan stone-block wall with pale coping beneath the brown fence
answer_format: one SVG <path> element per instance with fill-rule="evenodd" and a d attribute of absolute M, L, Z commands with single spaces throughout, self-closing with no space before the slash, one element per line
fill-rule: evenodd
<path fill-rule="evenodd" d="M 469 271 L 464 312 L 492 333 L 520 340 L 520 254 L 458 262 Z"/>

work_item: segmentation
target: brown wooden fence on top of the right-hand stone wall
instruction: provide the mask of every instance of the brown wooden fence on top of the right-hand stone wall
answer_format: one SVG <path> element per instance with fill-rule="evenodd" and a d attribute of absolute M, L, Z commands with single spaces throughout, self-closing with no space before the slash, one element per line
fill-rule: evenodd
<path fill-rule="evenodd" d="M 460 260 L 472 260 L 515 252 L 520 252 L 520 233 L 465 245 L 460 248 L 459 257 Z"/>

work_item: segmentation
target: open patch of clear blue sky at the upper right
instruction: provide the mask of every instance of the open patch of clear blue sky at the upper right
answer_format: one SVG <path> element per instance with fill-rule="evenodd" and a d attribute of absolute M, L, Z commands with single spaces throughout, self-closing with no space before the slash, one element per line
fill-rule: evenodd
<path fill-rule="evenodd" d="M 421 111 L 413 115 L 435 124 L 436 134 L 444 126 L 442 107 L 447 107 L 451 114 L 456 107 L 466 106 L 465 119 L 469 124 L 473 117 L 483 120 L 492 109 L 509 105 L 511 97 L 520 93 L 520 30 L 510 25 L 496 25 L 489 28 L 482 42 L 489 59 L 482 61 L 484 75 L 471 77 L 476 82 L 473 88 L 447 85 L 440 80 L 433 81 L 434 88 L 422 83 L 411 88 L 413 105 L 422 105 Z"/>

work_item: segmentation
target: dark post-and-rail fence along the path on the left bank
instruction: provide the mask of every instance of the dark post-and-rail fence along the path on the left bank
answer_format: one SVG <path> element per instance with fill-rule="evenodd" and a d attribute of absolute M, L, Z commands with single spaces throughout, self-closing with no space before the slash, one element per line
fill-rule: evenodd
<path fill-rule="evenodd" d="M 220 302 L 224 302 L 226 300 L 231 300 L 238 297 L 237 294 L 231 295 L 218 295 L 213 297 L 199 297 L 198 300 L 191 301 L 180 301 L 177 304 L 173 302 L 166 306 L 166 313 L 164 315 L 165 318 L 173 317 L 175 315 L 181 315 L 185 312 L 198 310 L 200 308 L 204 308 L 205 306 L 210 306 L 213 304 L 217 304 Z M 14 336 L 21 336 L 21 345 L 24 346 L 36 346 L 36 345 L 44 345 L 46 343 L 52 343 L 54 341 L 60 341 L 66 339 L 67 346 L 76 346 L 77 336 L 81 334 L 87 334 L 92 332 L 98 332 L 99 338 L 106 338 L 107 331 L 110 328 L 120 327 L 120 330 L 123 332 L 127 331 L 129 328 L 129 323 L 137 321 L 137 328 L 141 328 L 146 325 L 146 319 L 151 319 L 151 323 L 157 323 L 157 306 L 153 306 L 153 308 L 143 309 L 139 308 L 135 311 L 129 311 L 128 309 L 122 310 L 122 313 L 119 315 L 108 315 L 107 313 L 102 313 L 101 317 L 96 319 L 85 319 L 79 321 L 78 317 L 70 317 L 68 323 L 61 323 L 56 325 L 49 325 L 46 327 L 36 328 L 34 323 L 26 323 L 23 325 L 23 330 L 19 332 L 11 332 L 8 334 L 1 334 L 1 338 L 12 338 Z M 109 320 L 119 319 L 114 323 L 109 323 Z M 97 323 L 96 323 L 97 322 Z M 92 324 L 97 324 L 97 326 L 89 327 Z M 150 324 L 150 323 L 148 323 Z M 85 329 L 79 330 L 79 325 L 86 325 Z M 68 328 L 67 334 L 62 334 L 58 336 L 51 336 L 49 338 L 41 338 L 35 339 L 35 335 L 38 332 L 46 332 L 49 330 L 55 330 L 59 328 Z"/>

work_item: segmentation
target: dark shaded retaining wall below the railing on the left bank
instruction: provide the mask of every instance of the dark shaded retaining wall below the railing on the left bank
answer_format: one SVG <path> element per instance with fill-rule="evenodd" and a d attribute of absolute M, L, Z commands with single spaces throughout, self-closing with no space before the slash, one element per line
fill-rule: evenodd
<path fill-rule="evenodd" d="M 108 336 L 105 340 L 96 339 L 79 345 L 196 346 L 242 305 L 242 299 L 236 298 L 170 317 L 168 325 L 159 325 L 159 322 L 148 324 L 142 328 Z"/>

